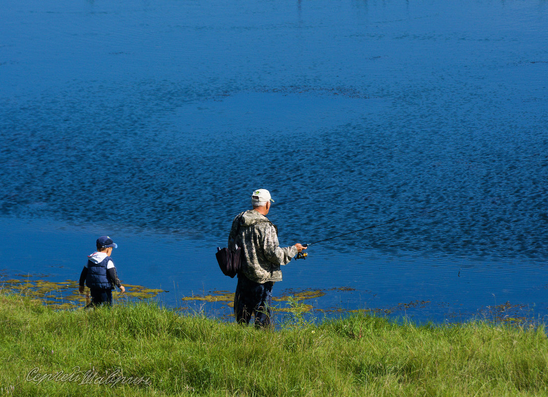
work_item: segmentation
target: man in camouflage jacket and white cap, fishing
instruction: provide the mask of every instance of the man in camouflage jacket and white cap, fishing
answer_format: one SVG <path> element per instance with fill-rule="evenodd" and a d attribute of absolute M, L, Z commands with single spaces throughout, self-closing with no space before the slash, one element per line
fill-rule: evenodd
<path fill-rule="evenodd" d="M 264 328 L 270 325 L 272 286 L 282 281 L 280 266 L 306 247 L 298 243 L 279 247 L 278 229 L 266 217 L 274 202 L 269 191 L 255 190 L 251 202 L 253 210 L 234 218 L 229 235 L 229 248 L 242 248 L 234 315 L 239 324 L 249 324 L 255 314 L 255 327 Z"/>

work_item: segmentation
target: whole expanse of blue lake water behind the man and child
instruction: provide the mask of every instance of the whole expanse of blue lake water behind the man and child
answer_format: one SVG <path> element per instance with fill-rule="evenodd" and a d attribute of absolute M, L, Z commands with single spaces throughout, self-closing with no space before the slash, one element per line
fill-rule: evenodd
<path fill-rule="evenodd" d="M 8 0 L 2 278 L 77 279 L 109 234 L 168 306 L 233 291 L 214 252 L 267 188 L 286 246 L 432 211 L 312 245 L 275 296 L 544 321 L 547 31 L 545 0 Z"/>

